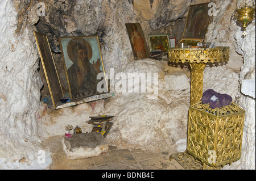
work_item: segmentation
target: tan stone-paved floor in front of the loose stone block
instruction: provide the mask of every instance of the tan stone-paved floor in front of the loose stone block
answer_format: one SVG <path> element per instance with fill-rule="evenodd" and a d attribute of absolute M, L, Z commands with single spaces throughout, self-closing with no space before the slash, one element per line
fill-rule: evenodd
<path fill-rule="evenodd" d="M 44 149 L 51 151 L 49 170 L 184 170 L 175 161 L 169 160 L 172 153 L 151 153 L 144 150 L 129 150 L 109 146 L 109 151 L 97 157 L 71 160 L 67 158 L 60 136 L 43 141 Z"/>

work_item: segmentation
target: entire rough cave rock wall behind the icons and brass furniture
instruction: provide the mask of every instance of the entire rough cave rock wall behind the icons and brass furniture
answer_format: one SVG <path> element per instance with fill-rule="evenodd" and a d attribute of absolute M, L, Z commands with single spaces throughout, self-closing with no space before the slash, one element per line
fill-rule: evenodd
<path fill-rule="evenodd" d="M 92 127 L 85 121 L 102 113 L 115 116 L 107 137 L 110 144 L 151 151 L 181 151 L 176 145 L 184 148 L 187 137 L 189 68 L 167 66 L 166 61 L 148 58 L 134 61 L 125 23 L 141 23 L 145 36 L 169 33 L 180 38 L 189 5 L 201 2 L 50 0 L 46 3 L 46 16 L 38 16 L 36 1 L 1 1 L 0 158 L 5 158 L 5 162 L 23 157 L 35 159 L 41 137 L 63 134 L 67 124 L 79 125 L 83 132 L 89 132 Z M 255 22 L 242 39 L 242 32 L 232 19 L 236 1 L 216 1 L 216 6 L 218 12 L 208 28 L 206 41 L 230 47 L 230 60 L 226 65 L 205 68 L 203 89 L 231 95 L 246 111 L 242 158 L 224 169 L 255 169 L 255 98 L 240 93 L 243 79 L 255 79 Z M 64 15 L 67 22 L 63 21 Z M 40 94 L 47 92 L 47 84 L 39 65 L 34 30 L 49 37 L 59 74 L 64 71 L 58 38 L 98 35 L 106 73 L 110 74 L 111 69 L 115 75 L 156 73 L 157 94 L 128 92 L 126 87 L 126 92 L 115 89 L 115 96 L 106 100 L 49 110 L 40 103 Z M 61 79 L 67 88 L 65 75 Z M 126 76 L 124 81 L 129 82 L 129 78 Z M 152 83 L 152 79 L 146 82 Z M 119 79 L 115 79 L 116 83 L 120 83 Z"/>

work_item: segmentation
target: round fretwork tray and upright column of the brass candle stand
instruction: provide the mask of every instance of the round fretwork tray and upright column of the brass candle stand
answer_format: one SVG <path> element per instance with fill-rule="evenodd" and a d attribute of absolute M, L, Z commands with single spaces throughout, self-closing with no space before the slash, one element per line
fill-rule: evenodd
<path fill-rule="evenodd" d="M 190 104 L 199 102 L 203 95 L 204 68 L 207 63 L 228 62 L 229 47 L 216 48 L 170 48 L 168 64 L 188 63 L 191 67 Z"/>

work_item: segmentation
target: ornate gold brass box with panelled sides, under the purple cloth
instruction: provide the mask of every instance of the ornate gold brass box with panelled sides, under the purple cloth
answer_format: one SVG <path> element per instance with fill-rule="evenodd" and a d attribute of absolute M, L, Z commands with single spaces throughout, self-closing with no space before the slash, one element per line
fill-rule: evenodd
<path fill-rule="evenodd" d="M 235 103 L 210 108 L 201 101 L 189 107 L 187 152 L 217 168 L 241 158 L 245 111 Z"/>

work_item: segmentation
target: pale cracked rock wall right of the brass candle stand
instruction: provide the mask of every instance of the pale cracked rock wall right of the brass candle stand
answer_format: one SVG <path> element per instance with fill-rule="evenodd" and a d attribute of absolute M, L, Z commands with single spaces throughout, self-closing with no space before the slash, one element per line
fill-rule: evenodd
<path fill-rule="evenodd" d="M 205 68 L 204 90 L 229 94 L 246 111 L 241 159 L 224 169 L 255 169 L 255 98 L 241 94 L 242 80 L 255 79 L 255 22 L 242 38 L 241 24 L 232 18 L 236 3 L 244 2 L 216 1 L 217 15 L 209 25 L 206 41 L 230 47 L 230 58 L 226 65 Z"/>

